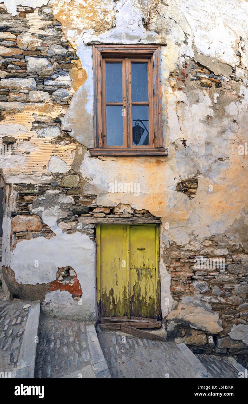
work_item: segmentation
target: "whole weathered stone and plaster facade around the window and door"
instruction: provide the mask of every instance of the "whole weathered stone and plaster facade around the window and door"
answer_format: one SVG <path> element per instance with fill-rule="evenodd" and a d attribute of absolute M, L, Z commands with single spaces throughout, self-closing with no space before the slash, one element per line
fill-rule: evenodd
<path fill-rule="evenodd" d="M 148 25 L 133 0 L 17 3 L 0 4 L 5 293 L 97 322 L 97 223 L 154 219 L 168 338 L 247 353 L 248 3 L 159 2 Z M 160 45 L 167 155 L 90 154 L 94 44 Z"/>

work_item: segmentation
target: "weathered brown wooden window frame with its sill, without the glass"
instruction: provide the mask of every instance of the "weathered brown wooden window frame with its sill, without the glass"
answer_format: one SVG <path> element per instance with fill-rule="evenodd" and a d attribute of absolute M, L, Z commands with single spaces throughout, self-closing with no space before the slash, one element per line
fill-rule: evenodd
<path fill-rule="evenodd" d="M 105 87 L 103 86 L 102 71 L 107 61 L 121 59 L 126 67 L 126 80 L 123 80 L 123 104 L 129 111 L 131 100 L 130 94 L 130 59 L 138 61 L 149 59 L 149 75 L 153 80 L 149 80 L 149 115 L 153 117 L 149 127 L 149 146 L 133 146 L 128 144 L 128 136 L 124 136 L 124 146 L 106 146 L 104 140 L 105 125 L 103 117 L 105 114 L 105 104 L 103 105 L 103 95 Z M 126 61 L 126 62 L 125 62 Z M 160 45 L 93 45 L 93 81 L 94 81 L 94 130 L 95 147 L 89 149 L 91 156 L 166 156 L 167 148 L 163 148 L 162 137 L 162 91 L 161 91 L 161 67 L 160 67 Z M 124 82 L 125 81 L 125 82 Z M 153 85 L 153 88 L 152 88 Z M 129 91 L 126 92 L 128 86 Z M 127 95 L 127 97 L 126 97 Z M 111 104 L 111 103 L 110 103 Z M 142 104 L 142 103 L 137 103 Z M 125 120 L 124 120 L 125 121 Z M 128 129 L 126 133 L 132 133 L 132 122 L 130 122 L 127 113 Z M 125 125 L 125 123 L 124 123 Z M 125 133 L 125 130 L 124 130 Z M 130 135 L 129 135 L 130 138 Z M 105 137 L 106 139 L 106 137 Z M 132 143 L 132 141 L 130 142 Z"/>

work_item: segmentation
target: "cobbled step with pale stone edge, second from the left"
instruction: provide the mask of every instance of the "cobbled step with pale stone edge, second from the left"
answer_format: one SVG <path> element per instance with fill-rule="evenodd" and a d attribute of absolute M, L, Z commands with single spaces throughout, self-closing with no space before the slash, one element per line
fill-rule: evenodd
<path fill-rule="evenodd" d="M 40 316 L 35 377 L 110 377 L 93 324 Z"/>

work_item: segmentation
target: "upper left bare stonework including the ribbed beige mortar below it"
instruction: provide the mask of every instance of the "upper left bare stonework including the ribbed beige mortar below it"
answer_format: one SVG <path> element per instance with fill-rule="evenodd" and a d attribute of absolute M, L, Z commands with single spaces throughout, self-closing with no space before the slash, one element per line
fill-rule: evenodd
<path fill-rule="evenodd" d="M 65 39 L 61 23 L 54 18 L 51 8 L 18 6 L 17 11 L 19 13 L 13 17 L 1 3 L 0 121 L 13 121 L 11 116 L 15 112 L 24 114 L 24 122 L 28 121 L 32 127 L 27 137 L 19 137 L 14 135 L 14 128 L 6 126 L 6 130 L 10 128 L 14 136 L 12 133 L 3 133 L 2 144 L 11 147 L 12 158 L 18 156 L 13 166 L 8 163 L 10 172 L 17 169 L 16 165 L 23 164 L 25 158 L 29 166 L 27 172 L 38 174 L 44 170 L 47 172 L 47 168 L 48 172 L 53 172 L 54 159 L 62 157 L 65 162 L 61 164 L 66 167 L 66 161 L 71 158 L 72 145 L 76 148 L 77 141 L 61 132 L 61 124 L 71 98 L 85 80 L 85 75 L 75 50 Z M 39 21 L 38 27 L 34 24 L 35 19 Z M 33 114 L 29 118 L 31 109 Z M 16 123 L 19 119 L 18 116 Z M 24 128 L 22 126 L 20 134 Z M 58 145 L 56 151 L 49 152 L 49 144 Z M 41 153 L 38 161 L 29 156 L 37 146 Z M 64 156 L 61 155 L 63 149 Z M 50 158 L 48 166 L 42 166 L 42 155 L 46 160 L 46 155 L 52 153 L 56 156 L 47 157 Z"/>

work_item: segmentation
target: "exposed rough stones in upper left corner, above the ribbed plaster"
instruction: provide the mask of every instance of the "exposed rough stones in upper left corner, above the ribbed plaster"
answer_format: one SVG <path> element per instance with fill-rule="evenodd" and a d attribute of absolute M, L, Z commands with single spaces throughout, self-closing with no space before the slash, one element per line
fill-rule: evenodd
<path fill-rule="evenodd" d="M 78 57 L 65 40 L 61 24 L 54 19 L 51 8 L 38 9 L 41 25 L 42 22 L 44 25 L 32 34 L 31 40 L 25 36 L 29 29 L 26 17 L 34 13 L 34 8 L 21 7 L 21 10 L 25 12 L 9 18 L 5 6 L 2 4 L 0 8 L 3 78 L 0 99 L 18 102 L 51 100 L 52 103 L 68 104 L 73 95 L 69 73 Z"/>

